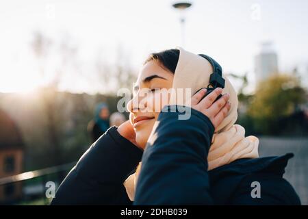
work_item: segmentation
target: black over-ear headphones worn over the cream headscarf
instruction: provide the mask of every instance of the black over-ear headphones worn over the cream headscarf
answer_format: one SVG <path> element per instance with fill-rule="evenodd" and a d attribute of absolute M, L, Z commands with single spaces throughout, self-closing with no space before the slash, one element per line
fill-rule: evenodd
<path fill-rule="evenodd" d="M 222 68 L 220 64 L 218 64 L 218 62 L 216 62 L 213 58 L 209 57 L 208 55 L 203 55 L 203 54 L 198 54 L 198 55 L 200 55 L 201 57 L 204 57 L 207 61 L 209 61 L 209 63 L 214 69 L 213 73 L 211 73 L 211 75 L 209 76 L 209 85 L 206 88 L 207 93 L 205 94 L 205 96 L 210 94 L 213 90 L 215 90 L 215 88 L 224 88 L 224 79 L 222 78 Z M 200 88 L 199 90 L 201 89 L 203 88 Z M 196 93 L 199 90 L 197 90 Z M 205 98 L 205 96 L 203 96 L 203 98 Z M 220 99 L 221 96 L 222 95 L 220 94 L 215 101 Z"/>

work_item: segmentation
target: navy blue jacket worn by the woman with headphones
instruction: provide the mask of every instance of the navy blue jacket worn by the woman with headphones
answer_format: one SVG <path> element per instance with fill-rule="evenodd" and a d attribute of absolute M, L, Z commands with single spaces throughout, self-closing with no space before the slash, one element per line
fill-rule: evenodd
<path fill-rule="evenodd" d="M 170 109 L 170 106 L 168 106 Z M 155 138 L 142 151 L 111 127 L 70 170 L 51 205 L 300 205 L 283 179 L 288 159 L 238 159 L 207 171 L 214 127 L 201 112 L 161 112 Z M 135 201 L 123 182 L 142 159 Z M 255 183 L 260 198 L 253 198 Z"/>

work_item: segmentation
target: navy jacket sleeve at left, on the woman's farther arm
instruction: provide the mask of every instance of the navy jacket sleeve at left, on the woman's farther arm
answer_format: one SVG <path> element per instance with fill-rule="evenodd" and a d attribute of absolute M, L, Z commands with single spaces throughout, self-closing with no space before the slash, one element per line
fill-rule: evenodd
<path fill-rule="evenodd" d="M 111 127 L 70 170 L 51 205 L 131 204 L 123 182 L 141 157 L 142 151 Z"/>

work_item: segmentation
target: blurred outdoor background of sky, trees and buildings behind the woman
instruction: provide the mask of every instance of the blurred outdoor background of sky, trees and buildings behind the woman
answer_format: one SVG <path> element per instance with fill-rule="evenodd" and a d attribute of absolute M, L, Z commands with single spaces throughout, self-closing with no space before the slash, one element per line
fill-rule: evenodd
<path fill-rule="evenodd" d="M 292 152 L 285 178 L 308 205 L 308 1 L 1 1 L 0 203 L 47 205 L 105 129 L 146 55 L 217 60 L 261 156 Z"/>

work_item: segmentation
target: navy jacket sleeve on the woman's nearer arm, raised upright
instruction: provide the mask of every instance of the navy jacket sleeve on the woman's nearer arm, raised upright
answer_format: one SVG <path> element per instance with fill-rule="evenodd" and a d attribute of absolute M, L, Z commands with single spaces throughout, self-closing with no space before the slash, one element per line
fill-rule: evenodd
<path fill-rule="evenodd" d="M 192 108 L 185 107 L 191 116 L 180 120 L 182 113 L 170 110 L 175 105 L 166 107 L 144 151 L 133 204 L 211 205 L 207 153 L 214 126 Z"/>

